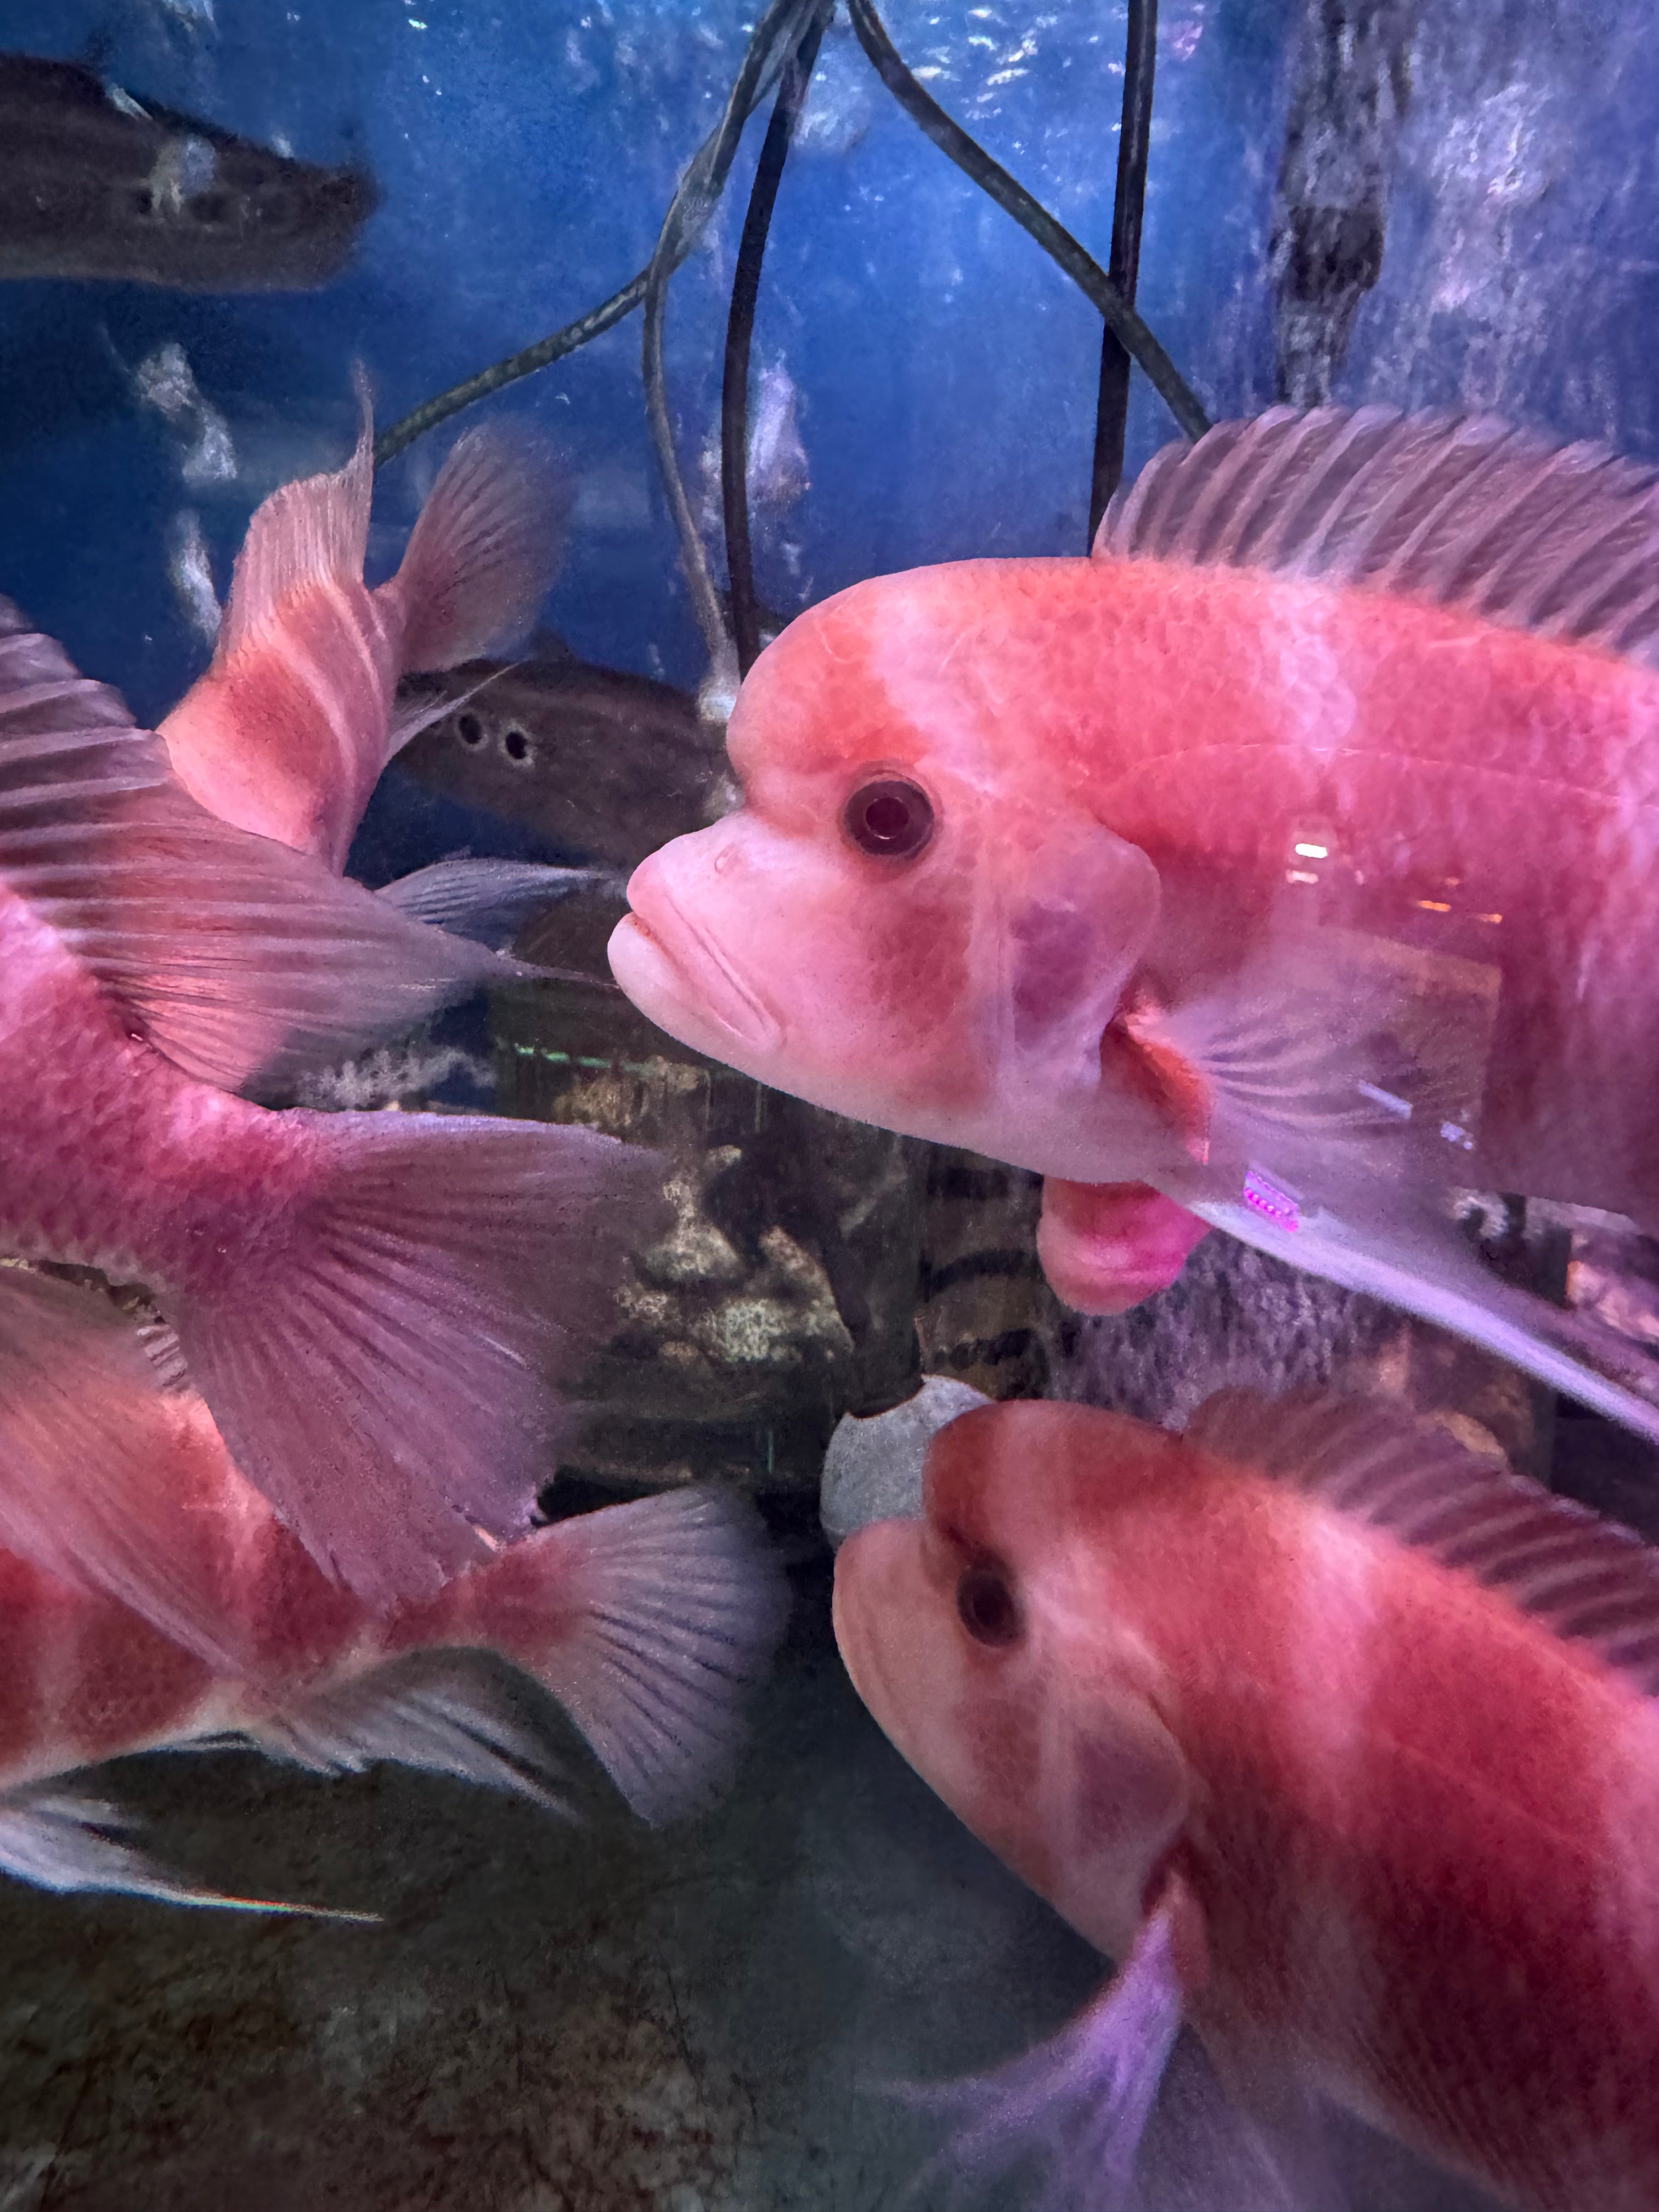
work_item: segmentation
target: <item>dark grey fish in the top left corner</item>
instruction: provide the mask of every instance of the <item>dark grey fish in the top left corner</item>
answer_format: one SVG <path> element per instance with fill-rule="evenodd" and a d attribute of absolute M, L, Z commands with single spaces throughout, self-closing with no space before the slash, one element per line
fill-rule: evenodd
<path fill-rule="evenodd" d="M 292 161 L 75 62 L 0 55 L 0 279 L 303 292 L 374 212 L 356 168 Z"/>

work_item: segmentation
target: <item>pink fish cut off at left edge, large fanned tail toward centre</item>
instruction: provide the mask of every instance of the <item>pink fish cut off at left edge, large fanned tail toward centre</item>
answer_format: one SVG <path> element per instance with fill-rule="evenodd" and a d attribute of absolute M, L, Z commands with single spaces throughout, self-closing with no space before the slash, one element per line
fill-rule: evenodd
<path fill-rule="evenodd" d="M 204 814 L 0 602 L 0 1250 L 146 1283 L 241 1471 L 374 1604 L 526 1526 L 659 1170 L 584 1128 L 228 1091 L 491 973 L 518 971 Z M 15 1305 L 0 1270 L 0 1360 Z M 0 1542 L 223 1657 L 131 1495 L 119 1425 L 0 1391 Z"/>

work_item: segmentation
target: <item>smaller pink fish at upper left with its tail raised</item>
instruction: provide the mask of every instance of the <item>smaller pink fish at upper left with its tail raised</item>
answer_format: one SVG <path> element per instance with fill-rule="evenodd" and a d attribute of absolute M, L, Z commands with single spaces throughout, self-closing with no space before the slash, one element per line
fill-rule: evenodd
<path fill-rule="evenodd" d="M 161 723 L 179 781 L 210 814 L 334 874 L 380 770 L 431 719 L 420 708 L 394 719 L 398 681 L 476 659 L 531 624 L 568 509 L 529 438 L 467 431 L 403 566 L 369 591 L 372 493 L 365 403 L 352 460 L 283 484 L 254 513 L 212 666 Z"/>

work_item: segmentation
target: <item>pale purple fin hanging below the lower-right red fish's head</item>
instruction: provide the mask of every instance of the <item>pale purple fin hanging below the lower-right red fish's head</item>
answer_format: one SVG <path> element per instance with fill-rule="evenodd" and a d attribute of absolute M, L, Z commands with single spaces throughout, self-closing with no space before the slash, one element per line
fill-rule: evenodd
<path fill-rule="evenodd" d="M 1042 2212 L 1117 2212 L 1137 2203 L 1141 2137 L 1181 2031 L 1179 1953 L 1192 1913 L 1186 1887 L 1168 1882 L 1113 1980 L 1057 2035 L 993 2073 L 898 2088 L 907 2104 L 951 2126 L 911 2194 L 951 2177 L 953 2201 L 1006 2205 L 1013 2201 L 1006 2179 L 1037 2166 L 1044 2179 L 1020 2201 Z"/>

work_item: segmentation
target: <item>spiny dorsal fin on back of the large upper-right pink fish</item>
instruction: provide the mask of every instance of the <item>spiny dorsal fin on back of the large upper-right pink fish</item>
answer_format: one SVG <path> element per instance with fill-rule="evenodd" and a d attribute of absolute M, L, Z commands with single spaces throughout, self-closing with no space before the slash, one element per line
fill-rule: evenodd
<path fill-rule="evenodd" d="M 1274 407 L 1155 453 L 1095 557 L 1398 593 L 1659 668 L 1655 484 L 1495 416 Z"/>

